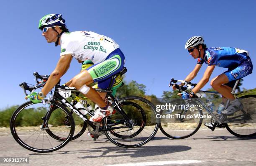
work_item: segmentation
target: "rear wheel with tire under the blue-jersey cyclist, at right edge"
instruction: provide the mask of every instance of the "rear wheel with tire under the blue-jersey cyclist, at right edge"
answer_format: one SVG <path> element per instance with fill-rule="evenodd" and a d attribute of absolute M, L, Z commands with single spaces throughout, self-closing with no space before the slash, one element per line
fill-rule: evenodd
<path fill-rule="evenodd" d="M 225 123 L 226 129 L 233 135 L 241 138 L 248 138 L 256 136 L 256 95 L 245 95 L 239 97 L 244 108 L 243 110 L 252 118 L 249 123 Z M 242 114 L 241 111 L 235 112 L 233 116 Z M 231 115 L 232 116 L 232 115 Z M 230 116 L 228 116 L 230 117 Z M 243 121 L 244 122 L 244 121 Z M 246 121 L 248 122 L 248 121 Z M 244 125 L 247 124 L 247 125 Z"/>

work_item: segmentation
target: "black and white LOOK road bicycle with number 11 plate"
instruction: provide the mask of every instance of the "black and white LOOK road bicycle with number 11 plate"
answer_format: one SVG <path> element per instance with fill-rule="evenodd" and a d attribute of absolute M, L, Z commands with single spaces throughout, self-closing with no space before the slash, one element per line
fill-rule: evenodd
<path fill-rule="evenodd" d="M 20 105 L 13 113 L 10 120 L 10 130 L 13 138 L 24 148 L 39 153 L 52 152 L 64 147 L 74 134 L 74 117 L 79 117 L 87 124 L 88 130 L 94 135 L 94 140 L 99 135 L 104 135 L 115 145 L 125 148 L 142 146 L 151 140 L 159 127 L 159 119 L 156 118 L 155 106 L 143 97 L 128 96 L 121 99 L 115 98 L 111 92 L 113 80 L 119 74 L 127 71 L 124 68 L 118 74 L 112 76 L 108 89 L 95 89 L 97 92 L 107 93 L 112 101 L 112 107 L 116 113 L 102 119 L 101 123 L 90 122 L 87 116 L 89 112 L 82 114 L 79 102 L 68 101 L 74 87 L 60 86 L 60 81 L 51 92 L 48 99 L 34 104 L 31 101 Z M 28 86 L 26 82 L 20 87 L 33 92 L 44 87 L 49 75 L 41 76 L 34 73 L 38 84 Z M 42 81 L 39 82 L 38 79 Z M 27 95 L 27 94 L 26 94 Z M 80 104 L 81 105 L 81 104 Z M 76 116 L 74 116 L 76 115 Z M 81 129 L 81 128 L 80 128 Z M 82 131 L 78 129 L 78 131 Z"/>

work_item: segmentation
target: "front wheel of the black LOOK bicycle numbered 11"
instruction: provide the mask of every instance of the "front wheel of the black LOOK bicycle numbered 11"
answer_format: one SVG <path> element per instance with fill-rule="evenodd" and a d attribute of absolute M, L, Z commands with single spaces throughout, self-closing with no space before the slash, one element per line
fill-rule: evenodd
<path fill-rule="evenodd" d="M 21 146 L 30 151 L 44 153 L 56 151 L 71 140 L 74 134 L 74 119 L 69 110 L 56 103 L 46 127 L 42 128 L 48 109 L 49 104 L 34 104 L 29 101 L 15 110 L 10 120 L 10 130 Z"/>

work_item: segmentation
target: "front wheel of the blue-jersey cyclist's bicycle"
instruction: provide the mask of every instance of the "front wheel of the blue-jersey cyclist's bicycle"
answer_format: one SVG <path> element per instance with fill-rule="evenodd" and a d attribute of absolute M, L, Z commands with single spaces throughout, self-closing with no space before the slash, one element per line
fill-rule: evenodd
<path fill-rule="evenodd" d="M 184 139 L 192 136 L 202 125 L 202 110 L 185 109 L 187 104 L 182 99 L 172 100 L 169 104 L 175 106 L 171 110 L 161 110 L 159 125 L 164 135 L 173 139 Z M 197 103 L 193 103 L 197 105 Z M 177 106 L 177 107 L 176 107 Z"/>

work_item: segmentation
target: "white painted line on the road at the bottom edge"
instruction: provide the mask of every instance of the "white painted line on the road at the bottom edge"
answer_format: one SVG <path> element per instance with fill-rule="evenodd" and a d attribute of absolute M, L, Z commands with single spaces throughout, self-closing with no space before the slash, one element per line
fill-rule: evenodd
<path fill-rule="evenodd" d="M 188 164 L 188 163 L 202 163 L 199 160 L 176 160 L 176 161 L 153 161 L 153 162 L 143 162 L 143 163 L 125 163 L 125 164 L 114 164 L 107 166 L 162 166 L 166 164 Z"/>

